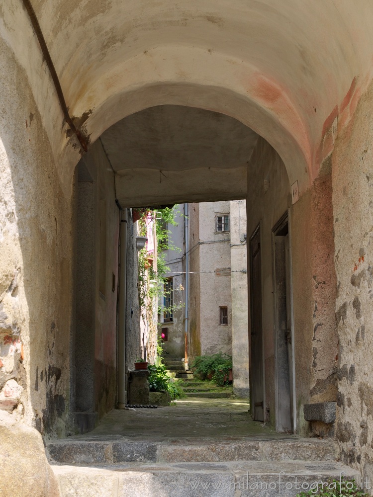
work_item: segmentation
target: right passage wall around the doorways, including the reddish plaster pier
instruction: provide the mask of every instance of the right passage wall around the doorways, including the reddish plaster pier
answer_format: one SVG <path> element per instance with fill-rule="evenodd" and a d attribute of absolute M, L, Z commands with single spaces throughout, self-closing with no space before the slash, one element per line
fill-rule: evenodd
<path fill-rule="evenodd" d="M 290 209 L 297 430 L 306 433 L 308 423 L 303 419 L 303 405 L 335 401 L 337 395 L 330 168 L 326 161 L 319 178 L 292 205 L 285 167 L 274 149 L 260 139 L 250 160 L 248 177 L 248 237 L 262 222 L 265 388 L 273 425 L 276 408 L 272 228 Z M 268 189 L 265 180 L 269 180 Z"/>

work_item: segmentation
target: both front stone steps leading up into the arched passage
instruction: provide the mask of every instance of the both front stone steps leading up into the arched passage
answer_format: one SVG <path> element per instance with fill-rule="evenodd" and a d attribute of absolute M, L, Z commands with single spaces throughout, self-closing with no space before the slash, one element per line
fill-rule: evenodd
<path fill-rule="evenodd" d="M 61 497 L 294 497 L 302 484 L 358 476 L 334 441 L 318 439 L 61 440 L 46 450 Z"/>

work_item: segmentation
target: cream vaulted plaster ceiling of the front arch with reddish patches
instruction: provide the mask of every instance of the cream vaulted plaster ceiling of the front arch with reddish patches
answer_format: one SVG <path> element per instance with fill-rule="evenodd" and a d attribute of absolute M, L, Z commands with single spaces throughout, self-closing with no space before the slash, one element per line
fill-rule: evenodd
<path fill-rule="evenodd" d="M 120 0 L 74 6 L 35 0 L 33 6 L 67 106 L 91 142 L 154 105 L 214 110 L 265 137 L 301 192 L 330 148 L 325 130 L 338 113 L 344 122 L 351 118 L 372 76 L 370 0 L 359 9 L 348 0 L 337 6 L 332 0 L 250 1 L 244 8 L 224 1 L 213 8 L 207 1 L 149 8 Z M 22 4 L 6 2 L 0 18 L 1 36 L 25 70 L 69 198 L 79 160 L 76 137 L 66 133 Z"/>

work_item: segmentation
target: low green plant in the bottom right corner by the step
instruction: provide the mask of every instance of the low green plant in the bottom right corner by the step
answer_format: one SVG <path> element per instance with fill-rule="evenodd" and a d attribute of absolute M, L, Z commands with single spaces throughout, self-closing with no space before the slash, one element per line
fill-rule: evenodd
<path fill-rule="evenodd" d="M 310 485 L 307 492 L 299 492 L 296 497 L 370 497 L 364 492 L 363 486 L 358 486 L 354 479 L 341 476 L 340 480 L 328 480 L 327 482 L 315 482 Z"/>

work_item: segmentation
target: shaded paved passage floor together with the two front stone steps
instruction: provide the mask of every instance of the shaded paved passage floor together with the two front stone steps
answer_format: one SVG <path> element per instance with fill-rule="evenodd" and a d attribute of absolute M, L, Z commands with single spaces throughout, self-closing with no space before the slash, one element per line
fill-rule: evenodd
<path fill-rule="evenodd" d="M 92 432 L 46 450 L 63 496 L 114 497 L 118 488 L 122 496 L 249 496 L 258 482 L 258 495 L 266 495 L 280 475 L 287 484 L 281 495 L 290 497 L 295 477 L 310 485 L 342 471 L 357 476 L 337 462 L 335 441 L 278 433 L 252 421 L 248 407 L 190 398 L 156 410 L 115 410 Z"/>

